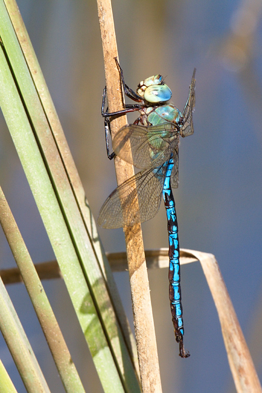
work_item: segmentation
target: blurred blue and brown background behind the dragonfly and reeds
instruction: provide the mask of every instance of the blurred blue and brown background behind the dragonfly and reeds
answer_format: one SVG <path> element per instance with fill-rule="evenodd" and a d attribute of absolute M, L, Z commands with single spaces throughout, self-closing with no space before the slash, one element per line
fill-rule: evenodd
<path fill-rule="evenodd" d="M 19 0 L 95 217 L 116 187 L 106 156 L 101 99 L 105 85 L 95 1 Z M 262 375 L 262 3 L 261 1 L 113 1 L 126 83 L 166 76 L 183 109 L 194 67 L 195 134 L 181 140 L 175 200 L 182 248 L 213 253 L 259 375 Z M 129 121 L 132 121 L 132 116 Z M 0 184 L 35 263 L 54 259 L 12 140 L 0 117 Z M 168 247 L 167 220 L 143 224 L 146 249 Z M 122 229 L 99 229 L 106 251 L 125 250 Z M 1 268 L 15 266 L 0 233 Z M 199 263 L 184 265 L 185 347 L 181 360 L 168 299 L 168 270 L 148 271 L 163 392 L 235 392 L 216 309 Z M 128 273 L 115 279 L 133 328 Z M 87 392 L 102 388 L 63 281 L 45 289 Z M 22 284 L 8 286 L 51 391 L 58 373 Z M 0 359 L 25 392 L 5 342 Z"/>

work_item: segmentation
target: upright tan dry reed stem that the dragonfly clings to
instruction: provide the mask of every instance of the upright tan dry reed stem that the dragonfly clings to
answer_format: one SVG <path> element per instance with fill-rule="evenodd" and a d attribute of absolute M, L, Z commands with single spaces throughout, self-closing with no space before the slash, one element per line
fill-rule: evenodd
<path fill-rule="evenodd" d="M 114 60 L 114 57 L 118 58 L 118 55 L 111 1 L 98 0 L 97 5 L 109 112 L 115 112 L 123 109 L 123 101 L 119 71 Z M 114 119 L 111 123 L 112 136 L 126 123 L 126 116 Z M 115 167 L 118 185 L 134 175 L 133 167 L 117 157 Z M 125 227 L 124 233 L 142 390 L 144 393 L 161 393 L 158 354 L 141 225 Z"/>

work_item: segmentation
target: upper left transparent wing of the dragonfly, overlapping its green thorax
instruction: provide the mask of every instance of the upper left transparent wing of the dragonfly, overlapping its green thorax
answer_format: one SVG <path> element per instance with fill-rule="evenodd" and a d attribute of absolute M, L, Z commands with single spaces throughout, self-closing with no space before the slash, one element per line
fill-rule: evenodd
<path fill-rule="evenodd" d="M 113 149 L 118 157 L 137 168 L 156 168 L 169 160 L 178 138 L 173 123 L 149 127 L 129 124 L 116 133 Z"/>

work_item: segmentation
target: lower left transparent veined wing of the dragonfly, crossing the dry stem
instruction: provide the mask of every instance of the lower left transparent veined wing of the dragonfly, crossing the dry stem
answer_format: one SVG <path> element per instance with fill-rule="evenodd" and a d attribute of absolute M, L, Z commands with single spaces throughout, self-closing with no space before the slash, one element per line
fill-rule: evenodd
<path fill-rule="evenodd" d="M 153 218 L 160 207 L 166 168 L 167 163 L 141 170 L 118 186 L 101 207 L 98 225 L 120 228 Z"/>

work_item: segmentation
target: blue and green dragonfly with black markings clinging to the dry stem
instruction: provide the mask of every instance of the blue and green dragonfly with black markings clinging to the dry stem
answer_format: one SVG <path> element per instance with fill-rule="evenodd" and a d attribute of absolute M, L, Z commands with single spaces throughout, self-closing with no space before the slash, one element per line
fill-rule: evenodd
<path fill-rule="evenodd" d="M 116 155 L 133 164 L 140 172 L 119 185 L 101 207 L 98 225 L 104 228 L 132 226 L 153 218 L 160 207 L 162 197 L 168 219 L 169 235 L 169 299 L 175 339 L 179 343 L 179 356 L 187 358 L 184 349 L 182 318 L 179 240 L 172 188 L 178 187 L 179 137 L 194 133 L 192 112 L 195 107 L 194 69 L 189 95 L 181 113 L 168 103 L 172 91 L 161 75 L 153 75 L 142 81 L 135 92 L 125 84 L 123 71 L 118 63 L 122 91 L 137 102 L 127 104 L 118 112 L 105 111 L 106 87 L 103 92 L 101 113 L 105 122 L 106 147 L 109 159 Z M 110 117 L 128 112 L 139 112 L 133 124 L 122 127 L 112 140 L 110 153 Z M 135 208 L 138 206 L 138 208 Z"/>

